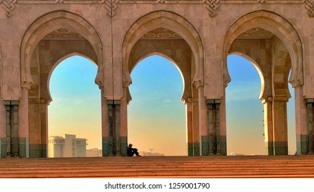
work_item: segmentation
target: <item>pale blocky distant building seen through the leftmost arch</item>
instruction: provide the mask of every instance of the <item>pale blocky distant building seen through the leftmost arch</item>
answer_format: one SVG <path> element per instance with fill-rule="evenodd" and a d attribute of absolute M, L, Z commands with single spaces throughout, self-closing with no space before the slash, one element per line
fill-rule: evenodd
<path fill-rule="evenodd" d="M 76 138 L 75 134 L 50 136 L 48 157 L 85 157 L 87 139 Z"/>

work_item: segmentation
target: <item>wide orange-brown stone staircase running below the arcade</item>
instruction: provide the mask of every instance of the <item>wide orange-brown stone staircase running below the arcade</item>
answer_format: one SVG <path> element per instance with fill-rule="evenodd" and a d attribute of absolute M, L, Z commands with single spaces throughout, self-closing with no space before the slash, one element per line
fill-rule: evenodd
<path fill-rule="evenodd" d="M 314 156 L 0 158 L 0 178 L 314 178 Z"/>

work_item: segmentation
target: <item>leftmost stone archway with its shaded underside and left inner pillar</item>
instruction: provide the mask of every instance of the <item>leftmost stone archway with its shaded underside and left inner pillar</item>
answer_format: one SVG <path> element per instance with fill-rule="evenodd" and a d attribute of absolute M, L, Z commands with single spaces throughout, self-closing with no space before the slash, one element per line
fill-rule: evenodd
<path fill-rule="evenodd" d="M 64 36 L 54 38 L 57 32 Z M 54 64 L 73 53 L 86 55 L 98 64 L 95 82 L 103 89 L 102 42 L 88 21 L 71 12 L 50 12 L 34 21 L 25 32 L 21 42 L 19 103 L 19 152 L 25 156 L 47 156 L 47 106 L 51 101 L 47 80 Z"/>

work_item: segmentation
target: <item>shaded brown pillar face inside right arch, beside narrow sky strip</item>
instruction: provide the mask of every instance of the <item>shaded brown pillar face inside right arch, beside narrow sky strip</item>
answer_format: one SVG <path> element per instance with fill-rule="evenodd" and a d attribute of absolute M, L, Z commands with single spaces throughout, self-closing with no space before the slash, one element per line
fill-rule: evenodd
<path fill-rule="evenodd" d="M 273 152 L 288 155 L 287 98 L 273 99 Z"/>

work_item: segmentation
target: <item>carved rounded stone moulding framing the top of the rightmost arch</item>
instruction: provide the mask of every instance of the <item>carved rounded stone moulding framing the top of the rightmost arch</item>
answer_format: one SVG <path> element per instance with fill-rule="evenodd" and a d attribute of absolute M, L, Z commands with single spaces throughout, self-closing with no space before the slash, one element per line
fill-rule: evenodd
<path fill-rule="evenodd" d="M 282 16 L 273 12 L 260 10 L 250 12 L 241 16 L 227 30 L 223 41 L 223 75 L 224 85 L 230 81 L 229 74 L 226 70 L 226 58 L 233 41 L 237 36 L 246 32 L 248 29 L 260 27 L 275 34 L 289 51 L 291 57 L 291 77 L 289 82 L 295 86 L 303 84 L 303 45 L 302 40 L 295 27 L 284 19 Z"/>

